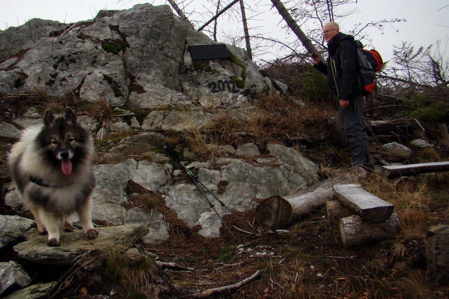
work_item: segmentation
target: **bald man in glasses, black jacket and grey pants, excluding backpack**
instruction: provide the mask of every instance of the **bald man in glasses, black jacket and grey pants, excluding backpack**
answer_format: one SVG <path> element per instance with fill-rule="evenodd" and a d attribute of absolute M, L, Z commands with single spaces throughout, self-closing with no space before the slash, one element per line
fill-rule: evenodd
<path fill-rule="evenodd" d="M 362 95 L 357 79 L 357 52 L 354 37 L 340 32 L 335 22 L 323 26 L 329 57 L 327 66 L 312 55 L 316 69 L 327 75 L 327 84 L 337 97 L 338 113 L 352 151 L 353 165 L 368 166 L 370 151 L 363 131 Z"/>

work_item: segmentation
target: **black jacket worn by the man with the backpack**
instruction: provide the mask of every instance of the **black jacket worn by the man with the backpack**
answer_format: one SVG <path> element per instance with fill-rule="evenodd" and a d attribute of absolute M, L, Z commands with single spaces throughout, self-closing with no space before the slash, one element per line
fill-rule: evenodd
<path fill-rule="evenodd" d="M 327 85 L 338 99 L 350 100 L 358 90 L 354 36 L 338 32 L 327 46 L 327 66 L 322 61 L 314 66 L 327 75 Z"/>

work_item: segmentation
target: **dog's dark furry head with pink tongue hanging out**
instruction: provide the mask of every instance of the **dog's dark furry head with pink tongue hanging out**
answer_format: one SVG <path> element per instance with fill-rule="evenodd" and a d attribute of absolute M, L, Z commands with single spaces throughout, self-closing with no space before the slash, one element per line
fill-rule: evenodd
<path fill-rule="evenodd" d="M 72 109 L 65 114 L 45 112 L 44 127 L 37 136 L 44 159 L 61 173 L 69 175 L 76 172 L 78 162 L 85 158 L 91 147 L 90 132 L 76 122 Z"/>

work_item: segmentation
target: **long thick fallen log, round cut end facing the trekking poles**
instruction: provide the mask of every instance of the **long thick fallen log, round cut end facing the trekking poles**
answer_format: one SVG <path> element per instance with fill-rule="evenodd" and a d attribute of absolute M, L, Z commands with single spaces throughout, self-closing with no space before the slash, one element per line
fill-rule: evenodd
<path fill-rule="evenodd" d="M 356 182 L 366 175 L 367 172 L 363 168 L 353 167 L 345 173 L 332 176 L 288 196 L 270 196 L 257 205 L 255 221 L 266 230 L 283 228 L 331 199 L 334 193 L 333 185 Z"/>

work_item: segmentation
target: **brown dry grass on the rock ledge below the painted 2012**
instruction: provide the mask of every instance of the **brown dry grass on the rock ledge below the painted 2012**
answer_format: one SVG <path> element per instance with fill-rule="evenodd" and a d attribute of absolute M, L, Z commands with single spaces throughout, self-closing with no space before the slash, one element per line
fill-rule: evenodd
<path fill-rule="evenodd" d="M 326 104 L 300 107 L 279 95 L 259 99 L 260 113 L 247 118 L 229 114 L 216 117 L 205 130 L 185 131 L 180 137 L 202 158 L 220 156 L 224 145 L 255 142 L 287 142 L 291 137 L 322 134 L 327 119 L 335 110 Z"/>

